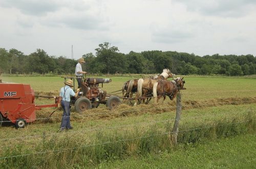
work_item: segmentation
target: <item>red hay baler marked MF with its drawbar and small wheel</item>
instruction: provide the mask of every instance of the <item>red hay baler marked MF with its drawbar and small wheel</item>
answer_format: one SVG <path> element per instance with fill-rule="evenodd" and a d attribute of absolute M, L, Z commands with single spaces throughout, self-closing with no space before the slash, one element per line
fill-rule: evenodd
<path fill-rule="evenodd" d="M 3 118 L 10 120 L 16 128 L 25 127 L 26 123 L 36 120 L 35 110 L 44 107 L 57 107 L 55 104 L 36 105 L 34 90 L 28 84 L 0 82 L 0 126 Z"/>

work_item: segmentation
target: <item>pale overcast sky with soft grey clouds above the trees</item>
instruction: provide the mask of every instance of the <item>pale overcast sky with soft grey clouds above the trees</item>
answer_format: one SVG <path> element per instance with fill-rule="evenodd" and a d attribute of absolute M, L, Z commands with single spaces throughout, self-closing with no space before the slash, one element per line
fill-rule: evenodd
<path fill-rule="evenodd" d="M 75 59 L 131 51 L 256 56 L 255 0 L 0 0 L 0 47 Z"/>

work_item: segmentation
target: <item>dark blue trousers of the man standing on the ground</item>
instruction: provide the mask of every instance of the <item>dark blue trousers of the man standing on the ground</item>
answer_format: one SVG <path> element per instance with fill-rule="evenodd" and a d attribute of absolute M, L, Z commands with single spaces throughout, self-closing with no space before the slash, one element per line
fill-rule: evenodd
<path fill-rule="evenodd" d="M 60 124 L 61 129 L 70 129 L 70 103 L 66 101 L 61 101 L 61 106 L 63 108 L 63 115 Z"/>

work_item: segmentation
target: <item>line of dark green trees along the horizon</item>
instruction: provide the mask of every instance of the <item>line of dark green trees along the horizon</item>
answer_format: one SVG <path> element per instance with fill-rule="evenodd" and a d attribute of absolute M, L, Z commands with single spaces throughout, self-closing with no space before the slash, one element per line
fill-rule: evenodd
<path fill-rule="evenodd" d="M 256 57 L 253 55 L 206 55 L 181 52 L 144 51 L 129 54 L 119 53 L 110 43 L 99 44 L 96 54 L 84 54 L 83 70 L 101 74 L 157 74 L 169 68 L 178 75 L 227 75 L 243 76 L 256 74 Z M 63 56 L 49 56 L 37 49 L 25 55 L 16 49 L 0 48 L 0 71 L 9 74 L 74 74 L 76 60 Z"/>

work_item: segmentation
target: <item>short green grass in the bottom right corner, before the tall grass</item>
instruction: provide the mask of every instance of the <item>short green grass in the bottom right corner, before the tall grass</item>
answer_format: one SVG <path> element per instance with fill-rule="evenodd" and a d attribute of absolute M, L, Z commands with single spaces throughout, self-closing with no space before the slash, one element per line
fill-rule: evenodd
<path fill-rule="evenodd" d="M 181 144 L 176 150 L 145 157 L 102 162 L 94 168 L 255 168 L 255 145 L 256 134 L 238 135 Z"/>

